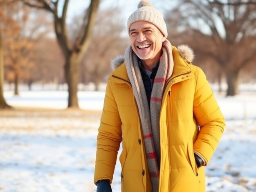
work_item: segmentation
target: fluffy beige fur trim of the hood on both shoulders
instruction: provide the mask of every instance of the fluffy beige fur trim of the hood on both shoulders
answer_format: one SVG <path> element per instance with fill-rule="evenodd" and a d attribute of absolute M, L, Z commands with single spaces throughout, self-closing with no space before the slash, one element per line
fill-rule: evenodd
<path fill-rule="evenodd" d="M 193 59 L 195 57 L 193 50 L 188 45 L 180 45 L 177 47 L 180 56 L 188 63 L 193 62 Z M 117 56 L 115 59 L 113 59 L 110 63 L 111 68 L 114 70 L 118 66 L 120 66 L 122 63 L 124 63 L 124 56 Z"/>

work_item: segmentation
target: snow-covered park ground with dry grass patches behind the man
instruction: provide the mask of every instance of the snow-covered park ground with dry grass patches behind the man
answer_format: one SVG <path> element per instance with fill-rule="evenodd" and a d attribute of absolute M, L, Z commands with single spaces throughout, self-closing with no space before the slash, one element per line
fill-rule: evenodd
<path fill-rule="evenodd" d="M 104 91 L 78 93 L 80 108 L 86 110 L 63 110 L 65 91 L 4 95 L 18 108 L 0 110 L 0 192 L 95 192 L 95 148 Z M 255 192 L 256 93 L 216 94 L 216 98 L 227 126 L 206 168 L 207 192 Z M 117 161 L 113 192 L 120 191 L 120 171 Z"/>

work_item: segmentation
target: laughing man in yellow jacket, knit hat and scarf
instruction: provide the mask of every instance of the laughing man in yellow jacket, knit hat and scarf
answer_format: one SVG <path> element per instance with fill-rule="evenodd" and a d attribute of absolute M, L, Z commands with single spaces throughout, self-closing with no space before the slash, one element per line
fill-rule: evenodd
<path fill-rule="evenodd" d="M 111 192 L 122 141 L 122 192 L 203 192 L 225 120 L 193 52 L 166 40 L 163 15 L 143 0 L 128 19 L 131 45 L 114 62 L 97 137 L 94 183 Z"/>

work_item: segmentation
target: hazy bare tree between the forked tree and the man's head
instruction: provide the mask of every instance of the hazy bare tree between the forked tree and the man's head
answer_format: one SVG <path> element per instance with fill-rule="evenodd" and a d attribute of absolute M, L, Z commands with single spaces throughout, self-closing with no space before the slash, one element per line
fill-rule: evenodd
<path fill-rule="evenodd" d="M 110 74 L 110 61 L 113 57 L 124 54 L 128 44 L 126 39 L 121 37 L 124 25 L 118 19 L 120 14 L 118 8 L 101 10 L 97 14 L 92 43 L 82 63 L 85 73 L 89 73 L 89 78 L 94 82 L 95 90 L 99 90 L 99 83 Z"/>

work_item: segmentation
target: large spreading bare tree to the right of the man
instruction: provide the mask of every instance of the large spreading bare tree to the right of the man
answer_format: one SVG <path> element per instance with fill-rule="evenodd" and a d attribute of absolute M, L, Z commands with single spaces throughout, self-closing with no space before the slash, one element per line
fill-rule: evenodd
<path fill-rule="evenodd" d="M 232 96 L 238 94 L 240 70 L 256 59 L 256 5 L 213 2 L 184 0 L 178 9 L 193 31 L 193 49 L 216 60 Z"/>

